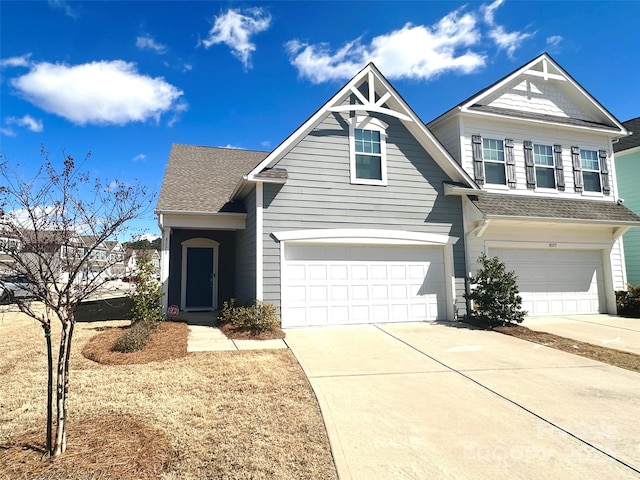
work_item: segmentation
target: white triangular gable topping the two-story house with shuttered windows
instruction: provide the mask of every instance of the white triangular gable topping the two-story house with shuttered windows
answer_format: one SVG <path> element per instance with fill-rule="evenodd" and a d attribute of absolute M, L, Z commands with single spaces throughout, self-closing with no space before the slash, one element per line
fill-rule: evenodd
<path fill-rule="evenodd" d="M 542 79 L 553 84 L 554 92 L 571 99 L 583 110 L 582 115 L 573 112 L 567 115 L 553 114 L 553 112 L 530 111 L 525 112 L 515 108 L 499 108 L 491 105 L 492 95 L 499 93 L 500 89 L 514 83 L 525 80 Z M 527 92 L 535 96 L 535 92 Z M 627 130 L 602 104 L 600 104 L 587 90 L 585 90 L 571 75 L 569 75 L 548 53 L 543 53 L 530 62 L 517 68 L 492 85 L 480 90 L 471 97 L 459 103 L 457 106 L 435 118 L 429 125 L 435 125 L 457 112 L 477 113 L 481 115 L 493 115 L 516 119 L 525 119 L 536 122 L 544 122 L 558 125 L 570 125 L 578 128 L 589 128 L 615 133 L 617 136 L 627 135 Z"/>

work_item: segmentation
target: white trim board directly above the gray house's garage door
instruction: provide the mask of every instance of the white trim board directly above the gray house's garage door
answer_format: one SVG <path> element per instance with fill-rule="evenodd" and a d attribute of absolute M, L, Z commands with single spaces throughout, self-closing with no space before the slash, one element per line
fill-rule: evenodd
<path fill-rule="evenodd" d="M 457 237 L 435 233 L 406 232 L 401 230 L 376 230 L 366 228 L 335 228 L 290 230 L 274 232 L 280 242 L 305 243 L 354 243 L 376 245 L 452 245 Z"/>

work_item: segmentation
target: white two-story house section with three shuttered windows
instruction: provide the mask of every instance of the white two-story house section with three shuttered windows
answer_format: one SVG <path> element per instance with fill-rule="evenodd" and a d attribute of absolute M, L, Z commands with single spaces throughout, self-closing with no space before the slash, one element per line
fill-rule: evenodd
<path fill-rule="evenodd" d="M 542 54 L 428 127 L 481 187 L 446 189 L 463 198 L 468 272 L 500 257 L 530 315 L 616 312 L 638 217 L 619 201 L 613 142 L 628 132 L 610 112 Z"/>

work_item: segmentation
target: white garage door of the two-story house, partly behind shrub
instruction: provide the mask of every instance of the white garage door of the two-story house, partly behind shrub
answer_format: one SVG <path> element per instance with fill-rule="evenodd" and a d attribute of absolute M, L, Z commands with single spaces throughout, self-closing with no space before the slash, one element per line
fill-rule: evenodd
<path fill-rule="evenodd" d="M 599 250 L 492 249 L 518 276 L 523 309 L 529 315 L 604 311 Z M 602 306 L 602 307 L 601 307 Z"/>

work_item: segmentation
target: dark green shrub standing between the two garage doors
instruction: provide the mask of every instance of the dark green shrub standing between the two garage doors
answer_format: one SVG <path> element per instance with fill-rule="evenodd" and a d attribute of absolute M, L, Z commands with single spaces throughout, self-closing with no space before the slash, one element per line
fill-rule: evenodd
<path fill-rule="evenodd" d="M 468 278 L 472 290 L 464 294 L 473 303 L 466 320 L 489 328 L 522 323 L 527 312 L 522 310 L 515 272 L 507 272 L 498 257 L 488 258 L 484 253 L 478 263 L 482 267 Z"/>

